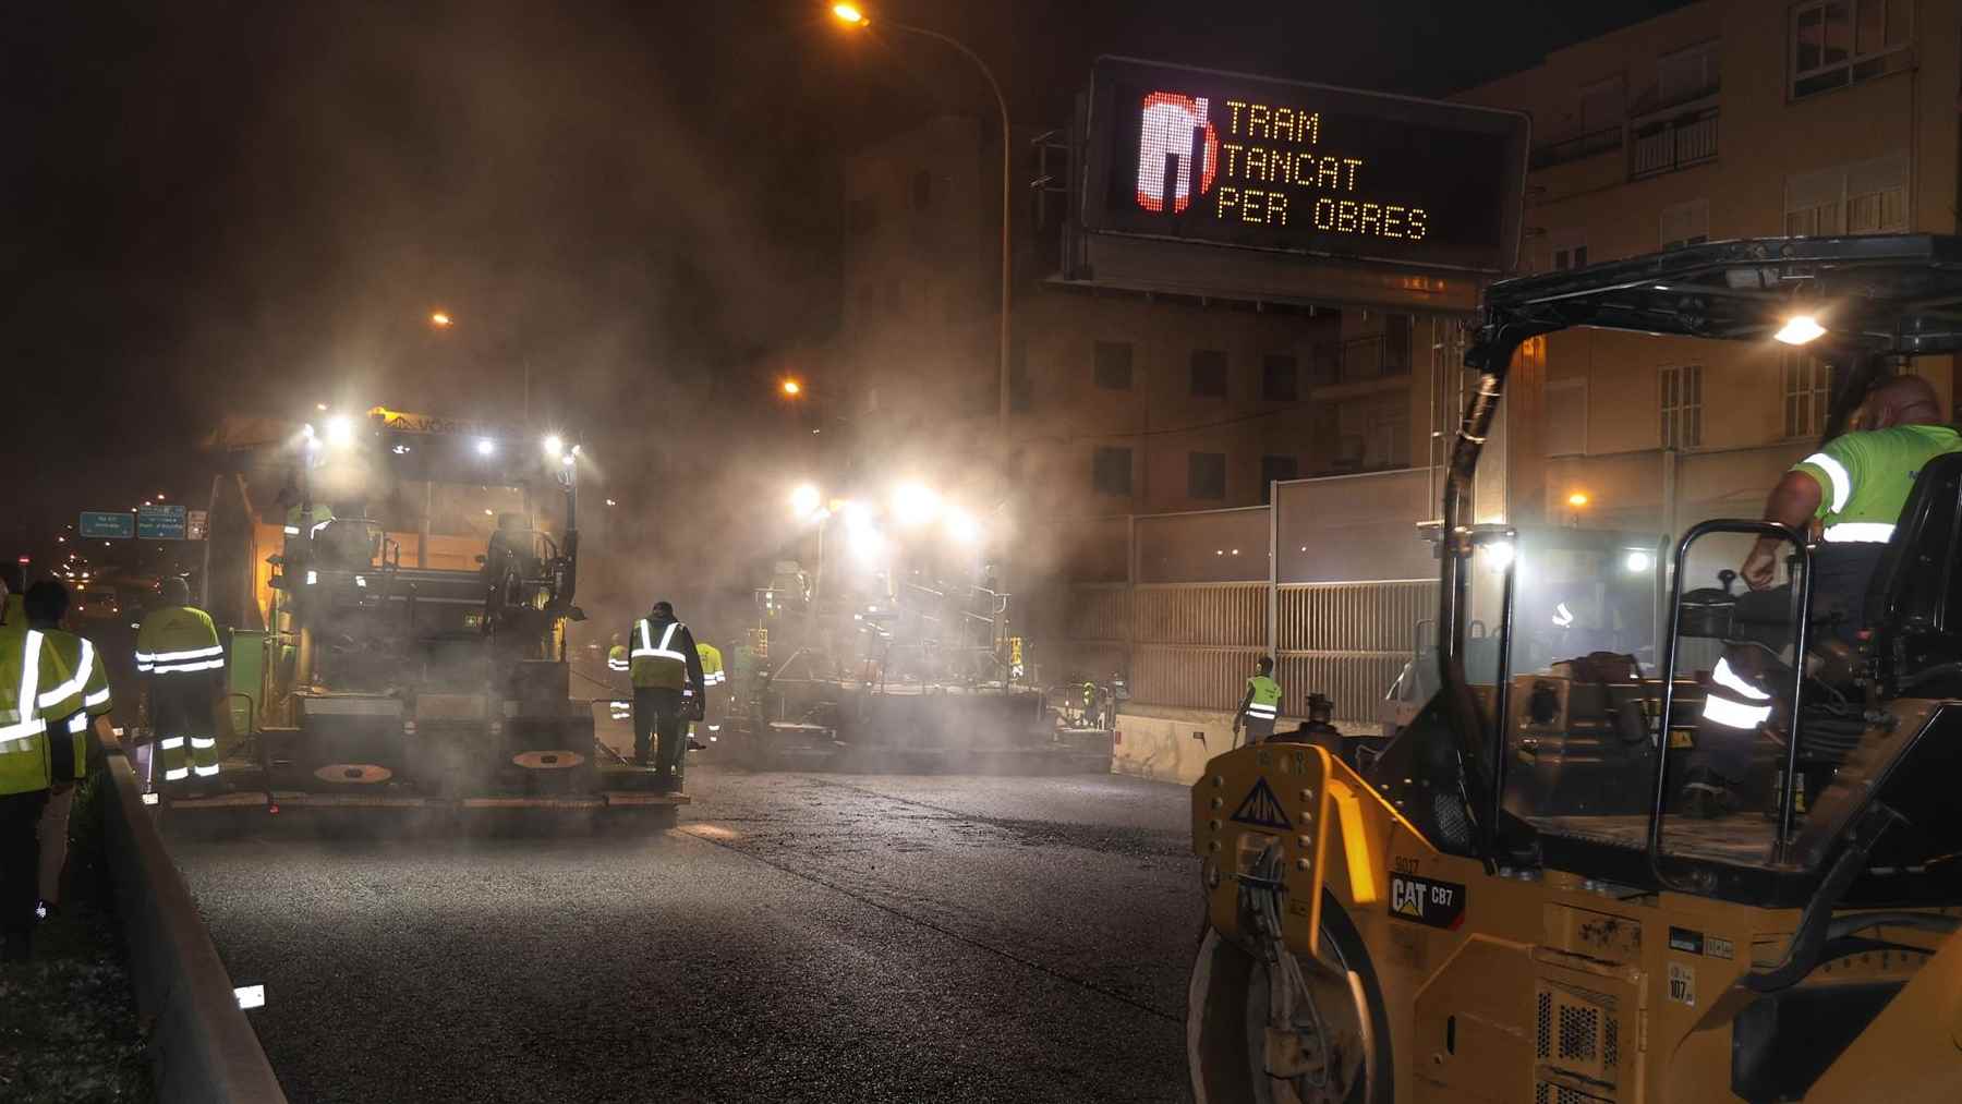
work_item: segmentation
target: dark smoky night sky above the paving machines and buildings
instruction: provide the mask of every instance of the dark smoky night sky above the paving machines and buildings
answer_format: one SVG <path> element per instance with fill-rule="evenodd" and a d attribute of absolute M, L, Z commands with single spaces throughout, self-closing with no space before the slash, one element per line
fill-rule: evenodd
<path fill-rule="evenodd" d="M 885 10 L 987 57 L 1018 122 L 1061 122 L 1099 53 L 1442 94 L 1674 6 Z M 985 96 L 930 43 L 791 0 L 16 6 L 0 539 L 159 477 L 192 492 L 224 410 L 512 420 L 530 365 L 540 420 L 683 433 L 834 329 L 840 153 Z"/>

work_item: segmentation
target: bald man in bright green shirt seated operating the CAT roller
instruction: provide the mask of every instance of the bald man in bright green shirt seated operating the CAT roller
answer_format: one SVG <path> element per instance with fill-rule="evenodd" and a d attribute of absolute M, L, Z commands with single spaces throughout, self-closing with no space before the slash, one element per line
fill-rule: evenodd
<path fill-rule="evenodd" d="M 1764 520 L 1805 529 L 1821 522 L 1813 551 L 1813 624 L 1827 641 L 1852 645 L 1866 629 L 1866 590 L 1893 526 L 1907 506 L 1921 467 L 1962 451 L 1962 435 L 1942 426 L 1940 400 L 1921 376 L 1893 376 L 1874 386 L 1842 433 L 1791 467 L 1764 502 Z M 1683 784 L 1683 812 L 1715 818 L 1736 808 L 1758 728 L 1772 720 L 1772 694 L 1791 673 L 1772 659 L 1789 635 L 1789 584 L 1774 588 L 1781 541 L 1760 537 L 1738 575 L 1752 594 L 1736 602 L 1736 620 L 1770 626 L 1766 647 L 1730 647 L 1711 671 Z M 1817 637 L 1815 637 L 1817 639 Z M 1770 651 L 1768 651 L 1770 649 Z M 1803 657 L 1799 657 L 1803 663 Z"/>

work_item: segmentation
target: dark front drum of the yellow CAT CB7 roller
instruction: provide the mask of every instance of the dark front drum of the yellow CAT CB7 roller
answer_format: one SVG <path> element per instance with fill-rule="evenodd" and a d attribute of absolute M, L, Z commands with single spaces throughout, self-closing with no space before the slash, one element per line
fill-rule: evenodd
<path fill-rule="evenodd" d="M 1322 898 L 1322 945 L 1358 975 L 1375 1039 L 1373 1092 L 1358 1082 L 1344 1104 L 1395 1104 L 1389 1010 L 1362 935 L 1332 896 Z M 1199 953 L 1185 990 L 1185 1065 L 1195 1104 L 1279 1104 L 1254 1069 L 1248 1000 L 1265 965 L 1244 945 L 1203 924 Z M 1287 1094 L 1293 1098 L 1293 1094 Z"/>

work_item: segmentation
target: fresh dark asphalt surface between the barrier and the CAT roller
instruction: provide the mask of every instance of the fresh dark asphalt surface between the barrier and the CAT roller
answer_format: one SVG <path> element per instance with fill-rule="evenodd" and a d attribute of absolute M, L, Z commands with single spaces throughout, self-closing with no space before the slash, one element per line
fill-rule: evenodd
<path fill-rule="evenodd" d="M 288 1096 L 1177 1100 L 1187 798 L 691 769 L 667 833 L 173 833 Z"/>

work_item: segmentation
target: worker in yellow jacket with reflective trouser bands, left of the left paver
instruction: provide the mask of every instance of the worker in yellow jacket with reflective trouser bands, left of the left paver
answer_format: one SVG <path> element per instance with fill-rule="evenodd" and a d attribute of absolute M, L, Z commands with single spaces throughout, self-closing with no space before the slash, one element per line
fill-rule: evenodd
<path fill-rule="evenodd" d="M 161 606 L 135 633 L 135 669 L 149 677 L 149 726 L 157 735 L 165 784 L 218 780 L 218 688 L 226 649 L 212 618 L 190 604 L 190 586 L 169 577 Z"/>

